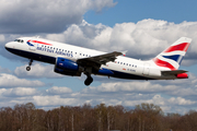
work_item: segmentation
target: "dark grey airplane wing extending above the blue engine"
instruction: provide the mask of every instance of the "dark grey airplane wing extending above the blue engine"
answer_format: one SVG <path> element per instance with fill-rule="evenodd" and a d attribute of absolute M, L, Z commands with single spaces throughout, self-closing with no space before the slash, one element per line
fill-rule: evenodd
<path fill-rule="evenodd" d="M 114 51 L 95 57 L 78 59 L 77 62 L 83 67 L 93 67 L 97 69 L 101 67 L 101 64 L 106 64 L 109 61 L 115 61 L 116 57 L 120 55 L 123 55 L 123 52 Z"/>

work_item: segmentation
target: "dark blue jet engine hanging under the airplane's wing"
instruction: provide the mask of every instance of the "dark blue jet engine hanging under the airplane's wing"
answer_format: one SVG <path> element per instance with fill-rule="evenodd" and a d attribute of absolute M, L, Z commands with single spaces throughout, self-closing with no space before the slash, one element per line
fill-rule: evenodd
<path fill-rule="evenodd" d="M 54 71 L 65 75 L 81 76 L 77 62 L 65 58 L 57 58 Z"/>

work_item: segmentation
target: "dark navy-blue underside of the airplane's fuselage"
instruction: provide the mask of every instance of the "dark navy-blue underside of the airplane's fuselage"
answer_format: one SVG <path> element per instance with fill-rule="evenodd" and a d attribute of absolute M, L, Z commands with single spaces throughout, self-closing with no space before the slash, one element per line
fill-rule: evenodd
<path fill-rule="evenodd" d="M 28 52 L 28 51 L 16 50 L 16 49 L 11 49 L 11 48 L 7 48 L 7 50 L 9 50 L 10 52 L 12 52 L 14 55 L 25 57 L 28 59 L 47 62 L 47 63 L 51 63 L 51 64 L 56 63 L 56 58 L 54 58 L 54 57 L 43 56 L 43 55 L 38 55 L 35 52 Z M 107 69 L 103 69 L 103 70 L 105 71 Z M 113 78 L 129 79 L 129 80 L 153 80 L 153 79 L 139 76 L 139 75 L 135 75 L 135 74 L 129 74 L 129 73 L 124 73 L 124 72 L 119 72 L 119 71 L 115 71 L 115 70 L 108 70 L 108 71 L 111 71 L 109 76 L 113 76 Z M 103 74 L 103 71 L 99 71 L 97 73 Z"/>

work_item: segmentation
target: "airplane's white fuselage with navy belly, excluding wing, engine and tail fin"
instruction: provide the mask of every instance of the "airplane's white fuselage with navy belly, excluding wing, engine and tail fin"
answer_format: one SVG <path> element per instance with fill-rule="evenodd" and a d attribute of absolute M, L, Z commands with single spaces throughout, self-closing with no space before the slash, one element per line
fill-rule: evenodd
<path fill-rule="evenodd" d="M 61 57 L 72 61 L 82 58 L 90 58 L 105 55 L 106 52 L 72 46 L 68 44 L 46 40 L 34 37 L 20 38 L 21 41 L 11 41 L 5 48 L 21 57 L 34 59 L 55 64 L 56 58 Z M 28 40 L 32 40 L 30 45 Z M 34 43 L 35 41 L 35 43 Z M 38 41 L 38 43 L 36 43 Z M 33 44 L 33 45 L 31 45 Z M 114 72 L 114 78 L 135 79 L 135 80 L 172 80 L 175 75 L 165 76 L 161 71 L 170 71 L 167 68 L 158 67 L 152 60 L 141 61 L 124 56 L 118 56 L 115 61 L 102 64 L 100 69 L 107 69 Z"/>

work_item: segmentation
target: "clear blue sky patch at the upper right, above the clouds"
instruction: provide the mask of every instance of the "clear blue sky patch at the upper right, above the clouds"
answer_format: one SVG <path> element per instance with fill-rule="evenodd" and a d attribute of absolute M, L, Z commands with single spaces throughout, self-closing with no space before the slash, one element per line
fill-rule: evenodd
<path fill-rule="evenodd" d="M 116 0 L 114 8 L 102 12 L 89 11 L 84 14 L 85 21 L 91 24 L 102 23 L 114 26 L 116 23 L 134 22 L 143 19 L 164 20 L 182 23 L 183 21 L 196 21 L 194 16 L 197 1 L 188 0 Z"/>

